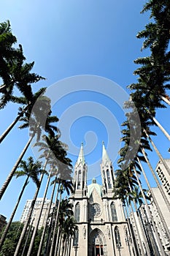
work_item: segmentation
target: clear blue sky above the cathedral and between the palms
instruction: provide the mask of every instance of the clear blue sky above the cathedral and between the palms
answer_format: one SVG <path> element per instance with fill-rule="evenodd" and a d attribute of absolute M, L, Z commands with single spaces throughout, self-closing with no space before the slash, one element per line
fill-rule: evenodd
<path fill-rule="evenodd" d="M 133 72 L 137 66 L 133 61 L 149 54 L 147 50 L 141 52 L 142 39 L 136 39 L 138 31 L 144 29 L 144 25 L 150 21 L 149 13 L 140 14 L 144 2 L 2 0 L 0 3 L 0 22 L 10 21 L 13 34 L 18 38 L 18 43 L 23 45 L 27 61 L 35 61 L 34 72 L 47 78 L 35 84 L 34 90 L 41 87 L 51 89 L 55 85 L 54 98 L 58 100 L 53 105 L 53 114 L 60 118 L 62 139 L 69 145 L 69 157 L 73 164 L 81 143 L 85 144 L 89 182 L 90 178 L 100 174 L 102 140 L 115 169 L 117 168 L 120 124 L 125 116 L 123 109 L 117 104 L 122 93 L 118 96 L 116 93 L 121 88 L 129 94 L 126 86 L 136 82 Z M 79 75 L 91 75 L 91 89 L 83 91 L 85 79 L 77 77 Z M 103 78 L 97 81 L 93 76 Z M 61 80 L 64 82 L 58 82 Z M 64 91 L 68 80 L 72 88 L 69 94 Z M 110 80 L 115 84 L 115 93 L 110 92 L 109 97 L 107 86 L 111 86 Z M 75 90 L 78 82 L 80 91 Z M 98 88 L 95 87 L 97 85 Z M 18 106 L 12 104 L 0 111 L 0 132 L 6 129 L 17 113 Z M 157 116 L 170 133 L 169 110 L 158 111 Z M 155 131 L 158 132 L 158 129 L 155 128 Z M 169 158 L 169 142 L 160 132 L 158 134 L 155 143 L 163 157 Z M 20 131 L 17 125 L 1 143 L 0 185 L 4 183 L 27 140 L 28 130 Z M 35 159 L 37 157 L 30 149 L 24 159 L 30 155 L 34 155 Z M 158 157 L 152 153 L 150 159 L 155 167 Z M 150 180 L 152 182 L 151 178 Z M 23 181 L 24 178 L 13 178 L 1 200 L 0 214 L 7 218 L 12 212 Z M 152 186 L 155 186 L 154 182 Z M 15 220 L 20 219 L 26 199 L 33 197 L 34 189 L 35 185 L 30 181 Z M 39 193 L 39 196 L 42 195 L 43 189 Z"/>

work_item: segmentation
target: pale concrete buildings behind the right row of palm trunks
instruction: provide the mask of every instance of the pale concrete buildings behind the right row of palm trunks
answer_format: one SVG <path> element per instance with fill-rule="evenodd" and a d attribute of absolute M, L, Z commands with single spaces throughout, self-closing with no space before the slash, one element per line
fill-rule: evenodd
<path fill-rule="evenodd" d="M 166 165 L 170 167 L 170 159 L 165 159 L 165 161 Z M 150 248 L 145 246 L 145 238 L 148 245 L 157 247 L 159 255 L 170 255 L 170 235 L 167 236 L 168 231 L 166 232 L 169 230 L 170 234 L 170 211 L 168 207 L 168 204 L 170 205 L 170 176 L 167 167 L 163 165 L 161 160 L 158 162 L 155 172 L 160 178 L 165 196 L 163 197 L 158 187 L 152 188 L 151 193 L 148 194 L 151 194 L 152 197 L 154 195 L 156 202 L 151 197 L 151 202 L 148 205 L 150 213 L 148 213 L 147 206 L 143 205 L 139 208 L 140 214 L 136 214 L 136 212 L 131 214 L 131 227 L 133 227 L 134 233 L 136 233 L 136 229 L 138 230 L 144 252 L 146 251 L 147 255 L 148 253 L 150 255 Z"/>

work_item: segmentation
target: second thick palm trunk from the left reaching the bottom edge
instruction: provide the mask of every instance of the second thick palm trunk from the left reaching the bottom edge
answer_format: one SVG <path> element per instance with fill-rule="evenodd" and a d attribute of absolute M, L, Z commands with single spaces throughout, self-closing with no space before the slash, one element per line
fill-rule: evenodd
<path fill-rule="evenodd" d="M 53 167 L 51 168 L 50 170 L 50 174 L 48 176 L 48 179 L 47 179 L 47 184 L 46 184 L 46 188 L 45 188 L 45 193 L 44 193 L 44 196 L 43 196 L 43 199 L 42 199 L 42 205 L 41 205 L 41 208 L 39 210 L 39 216 L 38 216 L 38 219 L 37 219 L 37 222 L 36 222 L 36 226 L 34 227 L 34 233 L 31 237 L 31 242 L 30 242 L 30 245 L 29 245 L 29 248 L 28 248 L 28 252 L 27 252 L 27 256 L 30 256 L 31 255 L 31 251 L 33 249 L 33 245 L 34 245 L 34 239 L 36 237 L 36 231 L 39 227 L 39 221 L 41 219 L 41 215 L 42 215 L 42 210 L 43 210 L 43 207 L 44 207 L 44 204 L 45 204 L 45 197 L 47 195 L 47 190 L 48 190 L 48 187 L 49 187 L 49 184 L 50 184 L 50 178 L 51 178 L 51 173 L 53 171 Z"/>

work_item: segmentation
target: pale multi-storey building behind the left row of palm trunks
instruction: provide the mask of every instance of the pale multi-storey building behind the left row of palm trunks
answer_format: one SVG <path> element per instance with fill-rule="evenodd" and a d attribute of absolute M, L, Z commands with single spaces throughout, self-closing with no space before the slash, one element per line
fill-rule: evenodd
<path fill-rule="evenodd" d="M 36 198 L 34 211 L 33 211 L 33 214 L 31 216 L 31 223 L 34 227 L 35 227 L 36 222 L 38 221 L 38 218 L 39 218 L 39 211 L 40 211 L 40 208 L 42 206 L 42 200 L 43 200 L 42 197 L 37 197 Z M 26 200 L 26 206 L 23 209 L 23 214 L 21 215 L 20 222 L 25 222 L 26 221 L 26 219 L 28 217 L 29 208 L 31 207 L 31 203 L 32 203 L 32 200 Z M 48 210 L 49 206 L 50 206 L 50 200 L 46 198 L 43 209 L 42 209 L 41 219 L 39 221 L 39 228 L 43 227 L 46 220 L 47 220 L 47 210 Z M 51 211 L 53 211 L 53 206 L 54 206 L 54 203 L 52 203 Z"/>

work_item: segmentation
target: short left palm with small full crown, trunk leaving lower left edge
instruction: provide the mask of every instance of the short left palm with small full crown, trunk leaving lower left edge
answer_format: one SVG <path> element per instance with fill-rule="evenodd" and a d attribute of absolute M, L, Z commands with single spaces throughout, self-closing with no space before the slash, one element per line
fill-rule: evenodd
<path fill-rule="evenodd" d="M 9 221 L 7 223 L 7 226 L 5 227 L 5 230 L 4 230 L 4 233 L 3 235 L 1 236 L 1 241 L 0 241 L 0 249 L 1 249 L 1 246 L 3 246 L 4 244 L 4 240 L 7 236 L 7 232 L 9 230 L 9 227 L 12 223 L 12 219 L 13 217 L 15 216 L 15 212 L 17 211 L 18 209 L 18 205 L 20 203 L 20 199 L 21 197 L 23 196 L 23 192 L 28 184 L 28 180 L 29 178 L 31 178 L 34 183 L 36 184 L 36 187 L 39 187 L 39 179 L 38 179 L 38 175 L 39 173 L 42 172 L 42 169 L 41 169 L 41 163 L 40 162 L 34 162 L 34 159 L 32 157 L 28 157 L 28 162 L 26 161 L 21 161 L 20 162 L 20 166 L 19 166 L 22 170 L 18 170 L 15 172 L 15 176 L 18 178 L 20 176 L 27 176 L 26 178 L 26 181 L 24 182 L 23 184 L 23 188 L 20 192 L 20 195 L 18 197 L 18 201 L 15 205 L 15 208 L 14 210 L 12 211 L 12 214 L 11 214 L 11 217 L 9 218 Z"/>

